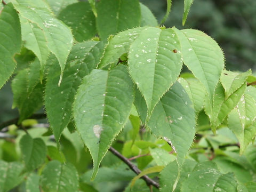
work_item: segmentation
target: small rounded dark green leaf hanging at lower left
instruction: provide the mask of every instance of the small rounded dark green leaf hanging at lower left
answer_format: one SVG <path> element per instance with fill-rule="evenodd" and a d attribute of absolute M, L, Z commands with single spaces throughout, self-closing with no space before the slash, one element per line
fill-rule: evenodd
<path fill-rule="evenodd" d="M 28 171 L 34 170 L 44 163 L 46 145 L 41 138 L 33 139 L 29 134 L 25 134 L 20 140 L 20 149 Z"/>

